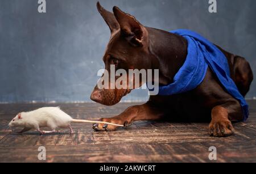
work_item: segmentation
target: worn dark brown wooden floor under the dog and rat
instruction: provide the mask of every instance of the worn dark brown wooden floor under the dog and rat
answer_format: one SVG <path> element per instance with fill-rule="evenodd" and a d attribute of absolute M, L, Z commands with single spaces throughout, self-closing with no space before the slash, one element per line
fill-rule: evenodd
<path fill-rule="evenodd" d="M 227 138 L 208 135 L 208 123 L 135 122 L 114 132 L 96 132 L 90 124 L 40 136 L 36 131 L 11 134 L 7 124 L 21 111 L 60 106 L 74 118 L 112 117 L 134 104 L 114 107 L 100 104 L 0 104 L 0 162 L 256 162 L 256 101 L 250 104 L 247 122 L 234 124 L 236 134 Z M 38 160 L 38 147 L 46 147 L 46 161 Z M 217 148 L 217 161 L 208 159 Z"/>

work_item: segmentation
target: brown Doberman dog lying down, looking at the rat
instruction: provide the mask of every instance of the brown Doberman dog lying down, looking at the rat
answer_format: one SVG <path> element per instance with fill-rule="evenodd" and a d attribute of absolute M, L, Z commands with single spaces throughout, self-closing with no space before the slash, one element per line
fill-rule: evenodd
<path fill-rule="evenodd" d="M 159 29 L 144 27 L 133 16 L 117 7 L 113 13 L 97 4 L 110 27 L 112 35 L 104 55 L 105 69 L 159 69 L 159 84 L 172 80 L 187 57 L 187 40 Z M 249 63 L 240 56 L 218 47 L 228 59 L 231 78 L 243 96 L 249 91 L 253 73 Z M 99 90 L 96 86 L 91 99 L 105 105 L 118 103 L 130 90 Z M 240 103 L 229 95 L 208 68 L 203 82 L 194 90 L 171 96 L 150 96 L 143 105 L 127 108 L 125 112 L 102 121 L 130 125 L 138 120 L 210 121 L 209 133 L 216 137 L 233 134 L 231 121 L 243 120 Z M 99 131 L 117 129 L 112 125 L 93 125 Z"/>

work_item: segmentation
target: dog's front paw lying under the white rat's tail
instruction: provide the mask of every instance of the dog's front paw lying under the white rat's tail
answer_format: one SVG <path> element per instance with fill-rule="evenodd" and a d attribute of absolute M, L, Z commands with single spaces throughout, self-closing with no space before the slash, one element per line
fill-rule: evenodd
<path fill-rule="evenodd" d="M 121 120 L 116 118 L 101 118 L 99 121 L 111 122 L 113 124 L 123 125 Z M 96 131 L 114 131 L 117 130 L 119 126 L 108 125 L 108 124 L 93 124 L 93 129 Z"/>

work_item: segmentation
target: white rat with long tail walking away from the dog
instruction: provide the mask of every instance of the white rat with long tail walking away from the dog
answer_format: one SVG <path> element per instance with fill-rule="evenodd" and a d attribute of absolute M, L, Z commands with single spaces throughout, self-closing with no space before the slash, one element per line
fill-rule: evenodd
<path fill-rule="evenodd" d="M 61 111 L 59 107 L 45 107 L 36 109 L 35 111 L 19 113 L 13 120 L 11 120 L 9 126 L 11 128 L 23 126 L 24 129 L 19 133 L 23 133 L 30 129 L 36 129 L 41 134 L 46 134 L 55 132 L 56 128 L 69 128 L 71 134 L 73 134 L 71 122 L 89 122 L 123 127 L 123 125 L 112 124 L 110 122 L 76 120 L 67 113 Z M 52 131 L 42 131 L 40 128 L 51 128 Z"/>

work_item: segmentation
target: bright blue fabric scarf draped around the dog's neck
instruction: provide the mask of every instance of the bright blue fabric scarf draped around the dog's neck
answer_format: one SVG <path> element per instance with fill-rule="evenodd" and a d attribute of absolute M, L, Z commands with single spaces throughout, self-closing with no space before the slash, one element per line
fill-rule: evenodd
<path fill-rule="evenodd" d="M 175 75 L 174 82 L 159 86 L 159 95 L 174 95 L 195 89 L 203 82 L 209 66 L 225 90 L 240 102 L 243 121 L 246 121 L 249 116 L 248 105 L 230 78 L 228 60 L 221 50 L 195 32 L 186 29 L 171 32 L 183 36 L 188 41 L 188 55 L 184 65 Z"/>

